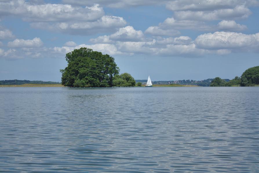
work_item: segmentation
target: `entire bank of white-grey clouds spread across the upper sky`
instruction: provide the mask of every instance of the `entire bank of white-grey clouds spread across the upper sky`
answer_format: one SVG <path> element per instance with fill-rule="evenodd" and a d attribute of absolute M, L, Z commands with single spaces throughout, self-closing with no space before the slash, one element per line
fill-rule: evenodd
<path fill-rule="evenodd" d="M 156 55 L 200 57 L 259 50 L 259 34 L 243 34 L 248 27 L 238 20 L 251 15 L 257 0 L 63 0 L 65 4 L 44 1 L 0 1 L 0 18 L 14 16 L 28 22 L 34 29 L 69 35 L 95 35 L 85 44 L 74 40 L 63 46 L 44 47 L 39 37 L 15 39 L 11 30 L 0 27 L 0 57 L 63 57 L 76 48 L 88 47 L 110 55 Z M 146 30 L 127 26 L 123 17 L 106 15 L 103 7 L 125 8 L 164 5 L 173 15 Z M 211 24 L 214 23 L 214 24 Z M 194 40 L 181 30 L 198 30 L 204 34 Z M 105 35 L 104 35 L 105 34 Z M 6 41 L 8 39 L 8 41 Z M 10 41 L 12 39 L 12 41 Z M 5 45 L 6 44 L 6 45 Z M 5 47 L 6 46 L 6 47 Z"/>

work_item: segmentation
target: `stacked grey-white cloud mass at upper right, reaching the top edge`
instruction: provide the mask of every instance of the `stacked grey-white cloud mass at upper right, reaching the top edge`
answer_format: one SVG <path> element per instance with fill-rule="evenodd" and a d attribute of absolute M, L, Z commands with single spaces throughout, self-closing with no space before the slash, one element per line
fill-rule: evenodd
<path fill-rule="evenodd" d="M 174 0 L 164 3 L 174 15 L 157 26 L 150 26 L 145 33 L 173 36 L 169 35 L 169 30 L 241 31 L 247 27 L 234 20 L 247 19 L 252 13 L 249 7 L 259 5 L 258 0 Z M 210 21 L 215 20 L 222 22 L 212 25 Z"/>

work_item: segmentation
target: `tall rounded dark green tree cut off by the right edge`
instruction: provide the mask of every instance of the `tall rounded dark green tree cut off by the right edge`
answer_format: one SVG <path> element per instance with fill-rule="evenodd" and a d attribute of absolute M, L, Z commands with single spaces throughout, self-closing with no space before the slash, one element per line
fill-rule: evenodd
<path fill-rule="evenodd" d="M 241 75 L 240 85 L 242 87 L 253 86 L 255 84 L 259 84 L 259 66 L 249 68 Z"/>

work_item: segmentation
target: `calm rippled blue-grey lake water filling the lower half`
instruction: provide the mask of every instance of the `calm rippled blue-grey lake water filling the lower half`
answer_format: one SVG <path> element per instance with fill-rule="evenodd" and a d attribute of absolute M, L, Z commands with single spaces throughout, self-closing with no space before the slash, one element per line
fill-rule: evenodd
<path fill-rule="evenodd" d="M 1 172 L 259 172 L 259 87 L 0 88 Z"/>

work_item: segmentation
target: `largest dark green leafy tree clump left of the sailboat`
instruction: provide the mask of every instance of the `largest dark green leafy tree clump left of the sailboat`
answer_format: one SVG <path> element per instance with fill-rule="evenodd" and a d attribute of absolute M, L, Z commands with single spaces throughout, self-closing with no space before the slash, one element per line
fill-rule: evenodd
<path fill-rule="evenodd" d="M 61 69 L 61 83 L 67 87 L 112 87 L 119 68 L 110 55 L 89 48 L 75 49 L 66 54 L 68 66 Z"/>

